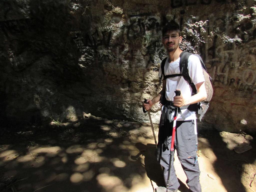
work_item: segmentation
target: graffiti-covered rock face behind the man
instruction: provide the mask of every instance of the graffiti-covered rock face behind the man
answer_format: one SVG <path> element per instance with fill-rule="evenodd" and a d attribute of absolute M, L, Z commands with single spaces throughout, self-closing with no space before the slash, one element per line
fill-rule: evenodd
<path fill-rule="evenodd" d="M 183 31 L 180 47 L 200 54 L 213 78 L 203 121 L 220 131 L 255 132 L 255 4 L 2 0 L 1 114 L 40 122 L 77 120 L 90 112 L 149 122 L 142 102 L 162 89 L 158 69 L 167 53 L 161 30 L 175 20 Z M 156 104 L 153 123 L 160 113 Z"/>

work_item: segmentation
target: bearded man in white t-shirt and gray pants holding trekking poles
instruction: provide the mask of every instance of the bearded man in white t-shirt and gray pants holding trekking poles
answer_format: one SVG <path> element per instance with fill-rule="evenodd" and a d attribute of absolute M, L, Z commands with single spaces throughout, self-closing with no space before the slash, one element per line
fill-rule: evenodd
<path fill-rule="evenodd" d="M 164 66 L 165 75 L 179 74 L 179 61 L 182 50 L 179 48 L 179 44 L 182 42 L 180 36 L 179 25 L 176 22 L 168 23 L 162 30 L 162 43 L 168 52 L 168 57 Z M 195 84 L 197 94 L 191 96 L 192 89 L 188 82 L 181 77 L 172 77 L 163 80 L 163 89 L 152 100 L 148 99 L 148 104 L 144 103 L 144 108 L 150 110 L 152 105 L 160 100 L 161 94 L 165 95 L 166 100 L 173 102 L 173 105 L 180 107 L 198 103 L 203 101 L 207 97 L 204 75 L 202 73 L 201 63 L 198 57 L 191 55 L 188 58 L 188 74 L 191 81 Z M 162 76 L 161 66 L 158 73 L 159 78 Z M 175 96 L 175 90 L 180 90 L 181 95 Z M 164 108 L 165 109 L 165 108 Z M 163 110 L 163 109 L 162 109 Z M 189 191 L 201 192 L 201 185 L 199 183 L 199 165 L 196 158 L 196 137 L 195 137 L 195 112 L 188 109 L 182 109 L 182 114 L 185 120 L 182 119 L 181 114 L 178 113 L 176 122 L 176 133 L 174 138 L 174 150 L 177 150 L 177 155 L 182 168 L 187 176 L 187 185 Z M 171 122 L 174 119 L 174 110 L 171 113 Z M 183 117 L 183 118 L 184 118 Z M 157 159 L 163 166 L 163 174 L 165 183 L 167 182 L 169 158 L 170 158 L 170 145 L 172 140 L 172 127 L 173 124 L 166 126 L 159 126 L 158 132 L 158 147 L 157 147 Z M 166 146 L 168 145 L 168 146 Z M 178 191 L 179 182 L 175 174 L 175 169 L 172 165 L 170 170 L 169 187 L 168 191 Z M 157 187 L 155 191 L 166 191 L 164 187 Z"/>

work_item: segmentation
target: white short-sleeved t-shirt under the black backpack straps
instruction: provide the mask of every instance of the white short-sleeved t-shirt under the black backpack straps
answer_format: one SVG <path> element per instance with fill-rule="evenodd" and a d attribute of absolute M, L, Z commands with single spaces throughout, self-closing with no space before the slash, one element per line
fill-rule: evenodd
<path fill-rule="evenodd" d="M 180 74 L 179 70 L 179 61 L 180 57 L 175 60 L 172 63 L 168 62 L 169 56 L 166 59 L 165 66 L 164 66 L 164 74 L 165 75 L 171 75 L 171 74 Z M 191 81 L 194 84 L 204 82 L 204 74 L 202 72 L 201 62 L 199 58 L 195 55 L 190 55 L 188 57 L 188 74 L 191 78 Z M 159 78 L 162 75 L 162 69 L 161 65 L 159 67 Z M 183 76 L 180 77 L 171 77 L 166 79 L 166 91 L 165 91 L 165 97 L 167 101 L 173 101 L 173 98 L 175 96 L 175 90 L 180 89 L 182 96 L 185 100 L 189 99 L 191 97 L 192 89 L 188 82 L 183 78 Z M 162 108 L 163 109 L 163 108 Z M 189 111 L 187 109 L 181 110 L 186 120 L 195 120 L 196 119 L 196 113 Z M 174 119 L 174 111 L 172 113 L 172 119 Z M 183 121 L 180 114 L 177 116 L 177 121 Z"/>

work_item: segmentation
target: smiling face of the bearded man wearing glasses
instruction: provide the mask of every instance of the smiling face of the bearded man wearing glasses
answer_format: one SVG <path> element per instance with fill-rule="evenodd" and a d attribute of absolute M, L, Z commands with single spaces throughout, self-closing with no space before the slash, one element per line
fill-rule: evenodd
<path fill-rule="evenodd" d="M 177 31 L 167 31 L 162 39 L 162 43 L 168 52 L 176 50 L 181 41 L 182 37 L 179 36 L 179 33 L 177 33 Z"/>

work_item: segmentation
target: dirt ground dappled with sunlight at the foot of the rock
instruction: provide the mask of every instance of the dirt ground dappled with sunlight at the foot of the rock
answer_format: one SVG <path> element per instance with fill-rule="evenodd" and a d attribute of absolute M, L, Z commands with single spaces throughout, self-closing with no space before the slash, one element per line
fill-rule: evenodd
<path fill-rule="evenodd" d="M 22 130 L 2 127 L 0 191 L 153 192 L 164 186 L 150 125 L 87 117 Z M 233 149 L 245 141 L 243 134 L 198 132 L 202 191 L 255 192 L 255 142 L 238 154 Z M 179 191 L 187 192 L 177 157 L 174 165 Z"/>

